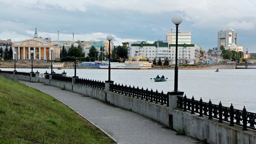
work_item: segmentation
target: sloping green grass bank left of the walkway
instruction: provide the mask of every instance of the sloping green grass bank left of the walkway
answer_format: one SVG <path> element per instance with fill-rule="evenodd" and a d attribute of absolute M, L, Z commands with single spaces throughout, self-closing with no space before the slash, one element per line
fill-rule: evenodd
<path fill-rule="evenodd" d="M 0 144 L 113 144 L 50 95 L 0 77 Z"/>

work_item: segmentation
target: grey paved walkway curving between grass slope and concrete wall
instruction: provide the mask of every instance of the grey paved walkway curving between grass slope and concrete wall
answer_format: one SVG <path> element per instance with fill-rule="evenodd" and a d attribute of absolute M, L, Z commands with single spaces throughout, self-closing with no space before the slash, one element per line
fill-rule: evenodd
<path fill-rule="evenodd" d="M 200 144 L 190 137 L 176 135 L 176 131 L 147 117 L 97 99 L 42 83 L 20 82 L 67 104 L 85 119 L 106 131 L 118 144 Z"/>

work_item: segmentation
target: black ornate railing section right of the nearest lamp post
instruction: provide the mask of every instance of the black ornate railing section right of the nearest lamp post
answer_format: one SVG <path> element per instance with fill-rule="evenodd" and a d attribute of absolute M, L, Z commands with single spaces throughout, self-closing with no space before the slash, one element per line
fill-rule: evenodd
<path fill-rule="evenodd" d="M 243 130 L 247 130 L 247 128 L 256 130 L 256 113 L 247 112 L 245 106 L 243 110 L 236 110 L 232 104 L 228 108 L 222 106 L 221 102 L 217 105 L 212 104 L 211 100 L 209 103 L 205 103 L 202 101 L 202 98 L 200 101 L 196 101 L 194 97 L 188 99 L 186 95 L 184 97 L 177 97 L 177 107 L 183 108 L 184 112 L 188 110 L 191 114 L 199 113 L 199 117 L 206 115 L 209 117 L 208 119 L 215 118 L 219 122 L 229 122 L 230 126 L 243 126 Z"/>

